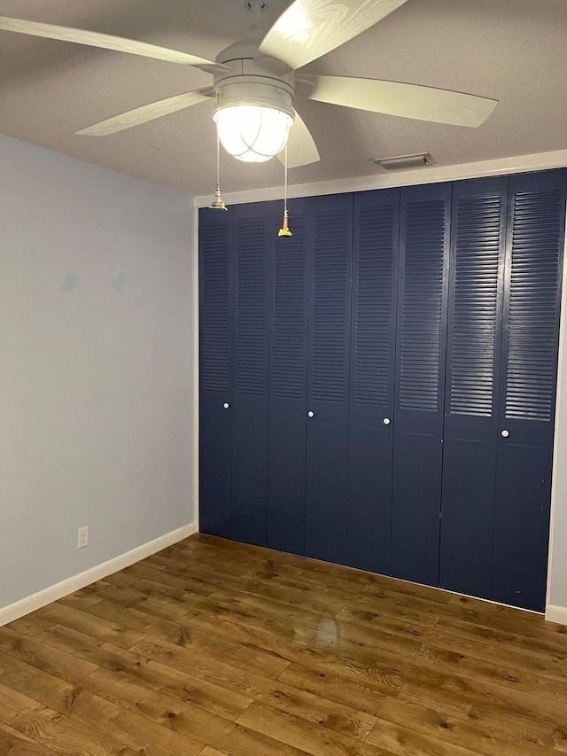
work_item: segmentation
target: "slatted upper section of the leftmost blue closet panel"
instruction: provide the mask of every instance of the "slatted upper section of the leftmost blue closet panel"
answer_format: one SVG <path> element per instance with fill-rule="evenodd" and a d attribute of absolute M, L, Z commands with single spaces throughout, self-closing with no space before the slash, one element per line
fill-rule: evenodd
<path fill-rule="evenodd" d="M 201 387 L 229 389 L 229 226 L 207 223 L 201 234 Z"/>

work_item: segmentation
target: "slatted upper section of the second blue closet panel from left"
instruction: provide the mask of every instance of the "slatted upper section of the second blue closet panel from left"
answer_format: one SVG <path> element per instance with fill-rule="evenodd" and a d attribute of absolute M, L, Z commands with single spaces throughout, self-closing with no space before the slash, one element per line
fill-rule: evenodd
<path fill-rule="evenodd" d="M 236 375 L 238 394 L 267 391 L 266 219 L 237 223 Z"/>

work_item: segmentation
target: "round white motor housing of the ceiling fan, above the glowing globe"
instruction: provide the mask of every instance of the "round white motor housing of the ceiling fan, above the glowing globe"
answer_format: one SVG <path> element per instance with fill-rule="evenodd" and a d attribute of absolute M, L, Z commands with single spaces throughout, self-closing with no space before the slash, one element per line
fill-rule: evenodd
<path fill-rule="evenodd" d="M 293 72 L 284 64 L 281 72 L 260 66 L 258 45 L 257 39 L 241 40 L 218 56 L 217 62 L 230 70 L 214 76 L 214 112 L 230 105 L 260 105 L 287 113 L 294 120 Z"/>

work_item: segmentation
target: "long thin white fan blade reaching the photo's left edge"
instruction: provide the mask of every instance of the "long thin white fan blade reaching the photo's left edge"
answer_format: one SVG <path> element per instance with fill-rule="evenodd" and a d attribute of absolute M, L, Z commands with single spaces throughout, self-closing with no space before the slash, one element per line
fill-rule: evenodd
<path fill-rule="evenodd" d="M 142 55 L 144 58 L 156 58 L 167 60 L 169 63 L 181 63 L 185 66 L 214 66 L 224 70 L 227 66 L 221 66 L 214 60 L 198 58 L 187 52 L 168 50 L 167 47 L 158 47 L 155 44 L 136 42 L 133 39 L 124 39 L 120 36 L 99 34 L 98 32 L 85 31 L 70 27 L 55 27 L 51 24 L 41 24 L 24 19 L 11 19 L 8 16 L 0 16 L 0 29 L 18 34 L 41 36 L 47 39 L 58 39 L 63 42 L 87 44 L 90 47 L 102 47 L 105 50 L 130 52 L 133 55 Z"/>

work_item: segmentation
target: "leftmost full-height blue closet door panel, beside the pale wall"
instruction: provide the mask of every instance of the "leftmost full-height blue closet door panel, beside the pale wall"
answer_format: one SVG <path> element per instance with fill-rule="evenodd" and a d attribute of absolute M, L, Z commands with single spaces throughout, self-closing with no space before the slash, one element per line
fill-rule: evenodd
<path fill-rule="evenodd" d="M 227 215 L 199 211 L 199 529 L 230 538 L 234 266 Z"/>

